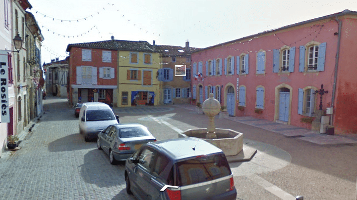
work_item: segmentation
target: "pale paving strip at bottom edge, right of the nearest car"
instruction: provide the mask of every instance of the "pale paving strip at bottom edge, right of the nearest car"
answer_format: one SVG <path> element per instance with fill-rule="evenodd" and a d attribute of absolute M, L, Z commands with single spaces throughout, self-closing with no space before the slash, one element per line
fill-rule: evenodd
<path fill-rule="evenodd" d="M 282 200 L 296 200 L 296 197 L 269 183 L 267 180 L 259 177 L 258 175 L 251 174 L 247 175 L 246 177 Z"/>

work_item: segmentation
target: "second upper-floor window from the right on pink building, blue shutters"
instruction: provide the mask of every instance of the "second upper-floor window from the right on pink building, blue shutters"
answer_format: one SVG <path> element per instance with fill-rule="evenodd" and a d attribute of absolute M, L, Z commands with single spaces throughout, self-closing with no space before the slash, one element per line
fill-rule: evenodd
<path fill-rule="evenodd" d="M 273 72 L 294 72 L 295 46 L 283 46 L 281 49 L 273 49 Z"/>

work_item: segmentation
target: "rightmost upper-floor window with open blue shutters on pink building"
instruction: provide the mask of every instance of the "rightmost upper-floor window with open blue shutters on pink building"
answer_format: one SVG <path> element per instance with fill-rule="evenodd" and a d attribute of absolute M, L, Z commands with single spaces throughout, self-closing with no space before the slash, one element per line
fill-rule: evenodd
<path fill-rule="evenodd" d="M 316 41 L 312 41 L 305 46 L 300 46 L 299 49 L 299 72 L 324 71 L 326 42 L 319 44 Z"/>

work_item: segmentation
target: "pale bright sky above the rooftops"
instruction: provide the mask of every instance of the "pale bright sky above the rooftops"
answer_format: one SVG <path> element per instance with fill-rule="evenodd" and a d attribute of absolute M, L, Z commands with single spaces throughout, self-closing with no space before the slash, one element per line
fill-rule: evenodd
<path fill-rule="evenodd" d="M 345 9 L 356 0 L 29 0 L 44 41 L 42 63 L 71 43 L 144 40 L 205 48 Z"/>

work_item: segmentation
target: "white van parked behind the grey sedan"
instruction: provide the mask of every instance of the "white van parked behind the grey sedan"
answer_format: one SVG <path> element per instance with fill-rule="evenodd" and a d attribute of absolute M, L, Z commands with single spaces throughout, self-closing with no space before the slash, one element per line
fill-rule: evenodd
<path fill-rule="evenodd" d="M 105 103 L 84 103 L 79 111 L 79 133 L 84 135 L 84 141 L 98 138 L 100 131 L 116 123 L 119 123 L 119 116 L 114 116 Z"/>

